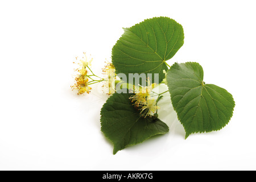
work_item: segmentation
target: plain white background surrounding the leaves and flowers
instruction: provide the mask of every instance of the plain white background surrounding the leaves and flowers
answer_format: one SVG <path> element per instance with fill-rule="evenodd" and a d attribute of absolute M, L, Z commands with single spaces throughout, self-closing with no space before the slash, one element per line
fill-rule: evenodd
<path fill-rule="evenodd" d="M 255 1 L 0 1 L 1 170 L 255 170 Z M 95 86 L 72 92 L 73 61 L 85 51 L 101 73 L 112 47 L 147 18 L 184 28 L 168 64 L 197 61 L 204 81 L 233 94 L 234 115 L 220 131 L 192 134 L 168 103 L 170 132 L 113 155 L 100 131 L 108 98 Z M 161 105 L 160 105 L 161 106 Z"/>

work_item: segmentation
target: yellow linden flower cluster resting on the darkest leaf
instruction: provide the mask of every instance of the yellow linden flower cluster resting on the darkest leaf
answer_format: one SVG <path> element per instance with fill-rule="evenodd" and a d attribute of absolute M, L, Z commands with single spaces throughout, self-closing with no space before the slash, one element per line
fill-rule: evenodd
<path fill-rule="evenodd" d="M 152 117 L 152 115 L 156 113 L 156 110 L 159 109 L 159 106 L 156 105 L 156 100 L 150 96 L 156 84 L 150 84 L 149 79 L 147 82 L 149 86 L 134 88 L 134 94 L 130 97 L 131 102 L 134 102 L 133 105 L 141 110 L 141 114 L 144 118 Z"/>

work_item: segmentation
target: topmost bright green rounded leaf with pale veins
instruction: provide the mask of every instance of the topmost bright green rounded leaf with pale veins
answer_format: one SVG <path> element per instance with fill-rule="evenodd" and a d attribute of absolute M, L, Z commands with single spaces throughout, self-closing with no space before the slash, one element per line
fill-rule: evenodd
<path fill-rule="evenodd" d="M 151 82 L 161 82 L 167 71 L 166 60 L 171 59 L 184 43 L 183 27 L 167 17 L 146 19 L 130 28 L 112 49 L 112 61 L 117 73 L 159 73 Z M 142 78 L 143 79 L 143 78 Z M 141 83 L 141 82 L 140 82 Z"/>

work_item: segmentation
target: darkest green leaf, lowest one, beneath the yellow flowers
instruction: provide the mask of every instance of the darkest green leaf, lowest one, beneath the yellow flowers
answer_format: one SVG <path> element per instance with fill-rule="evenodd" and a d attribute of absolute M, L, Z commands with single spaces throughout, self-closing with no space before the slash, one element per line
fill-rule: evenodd
<path fill-rule="evenodd" d="M 113 153 L 168 132 L 166 123 L 155 117 L 144 118 L 132 105 L 130 93 L 114 93 L 101 109 L 101 131 L 114 144 Z"/>

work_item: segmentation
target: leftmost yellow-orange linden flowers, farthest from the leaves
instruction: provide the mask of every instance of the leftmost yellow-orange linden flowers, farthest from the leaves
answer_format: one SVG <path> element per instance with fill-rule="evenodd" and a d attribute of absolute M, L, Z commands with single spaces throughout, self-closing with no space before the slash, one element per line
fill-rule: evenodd
<path fill-rule="evenodd" d="M 76 60 L 78 59 L 78 57 L 76 57 Z M 89 86 L 89 79 L 87 77 L 87 69 L 86 67 L 88 67 L 88 65 L 90 65 L 90 63 L 92 62 L 93 59 L 88 60 L 85 52 L 84 52 L 84 57 L 82 57 L 82 59 L 80 59 L 80 63 L 78 63 L 80 65 L 80 68 L 75 69 L 75 71 L 78 72 L 76 78 L 75 78 L 75 85 L 71 86 L 72 90 L 78 90 L 78 95 L 80 94 L 84 94 L 89 93 L 90 92 L 90 86 Z M 73 62 L 75 63 L 75 62 Z"/>

